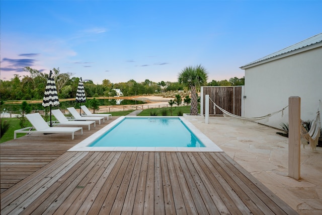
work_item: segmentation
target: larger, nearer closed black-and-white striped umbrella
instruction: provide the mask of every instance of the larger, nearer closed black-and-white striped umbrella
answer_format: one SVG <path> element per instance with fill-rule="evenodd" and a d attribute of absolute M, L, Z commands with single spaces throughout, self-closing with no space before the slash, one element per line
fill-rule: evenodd
<path fill-rule="evenodd" d="M 57 106 L 57 105 L 59 105 L 58 94 L 57 94 L 57 89 L 56 89 L 56 85 L 55 85 L 55 80 L 52 75 L 52 71 L 50 70 L 49 77 L 47 80 L 44 99 L 42 101 L 42 106 L 44 106 L 44 107 L 49 106 L 50 107 L 50 127 L 52 127 L 51 107 Z"/>

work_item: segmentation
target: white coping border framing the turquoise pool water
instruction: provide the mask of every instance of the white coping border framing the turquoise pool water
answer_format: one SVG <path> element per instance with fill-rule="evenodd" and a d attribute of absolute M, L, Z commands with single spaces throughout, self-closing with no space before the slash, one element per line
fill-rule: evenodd
<path fill-rule="evenodd" d="M 187 127 L 199 138 L 205 147 L 88 147 L 94 140 L 98 139 L 106 131 L 119 123 L 124 118 L 146 118 L 146 116 L 121 116 L 102 129 L 93 133 L 79 144 L 75 145 L 68 152 L 223 152 L 211 139 L 197 129 L 191 122 L 183 116 L 178 116 Z M 153 118 L 165 118 L 167 116 L 152 116 Z M 174 117 L 174 116 L 168 116 Z M 176 116 L 177 117 L 177 116 Z"/>

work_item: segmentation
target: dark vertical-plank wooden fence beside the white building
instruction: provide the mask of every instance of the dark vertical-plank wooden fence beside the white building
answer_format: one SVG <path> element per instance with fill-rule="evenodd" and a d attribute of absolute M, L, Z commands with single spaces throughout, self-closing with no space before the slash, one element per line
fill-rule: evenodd
<path fill-rule="evenodd" d="M 224 110 L 241 116 L 241 97 L 243 86 L 235 87 L 202 87 L 200 99 L 205 104 L 205 96 L 209 98 Z M 205 106 L 203 105 L 202 113 L 205 113 Z M 214 104 L 209 103 L 209 115 L 222 115 L 222 111 L 218 108 L 214 110 Z"/>

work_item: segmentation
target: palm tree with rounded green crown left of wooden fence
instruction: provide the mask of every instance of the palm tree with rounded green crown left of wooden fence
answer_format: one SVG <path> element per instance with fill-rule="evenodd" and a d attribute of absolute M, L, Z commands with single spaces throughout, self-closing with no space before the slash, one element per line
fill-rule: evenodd
<path fill-rule="evenodd" d="M 179 73 L 178 82 L 191 90 L 190 115 L 198 115 L 197 88 L 207 84 L 208 73 L 202 65 L 187 66 Z"/>

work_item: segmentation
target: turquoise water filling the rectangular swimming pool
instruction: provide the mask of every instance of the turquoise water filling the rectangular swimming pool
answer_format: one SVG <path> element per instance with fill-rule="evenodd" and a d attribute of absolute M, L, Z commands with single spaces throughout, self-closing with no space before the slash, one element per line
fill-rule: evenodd
<path fill-rule="evenodd" d="M 179 117 L 124 118 L 88 147 L 205 147 Z"/>

